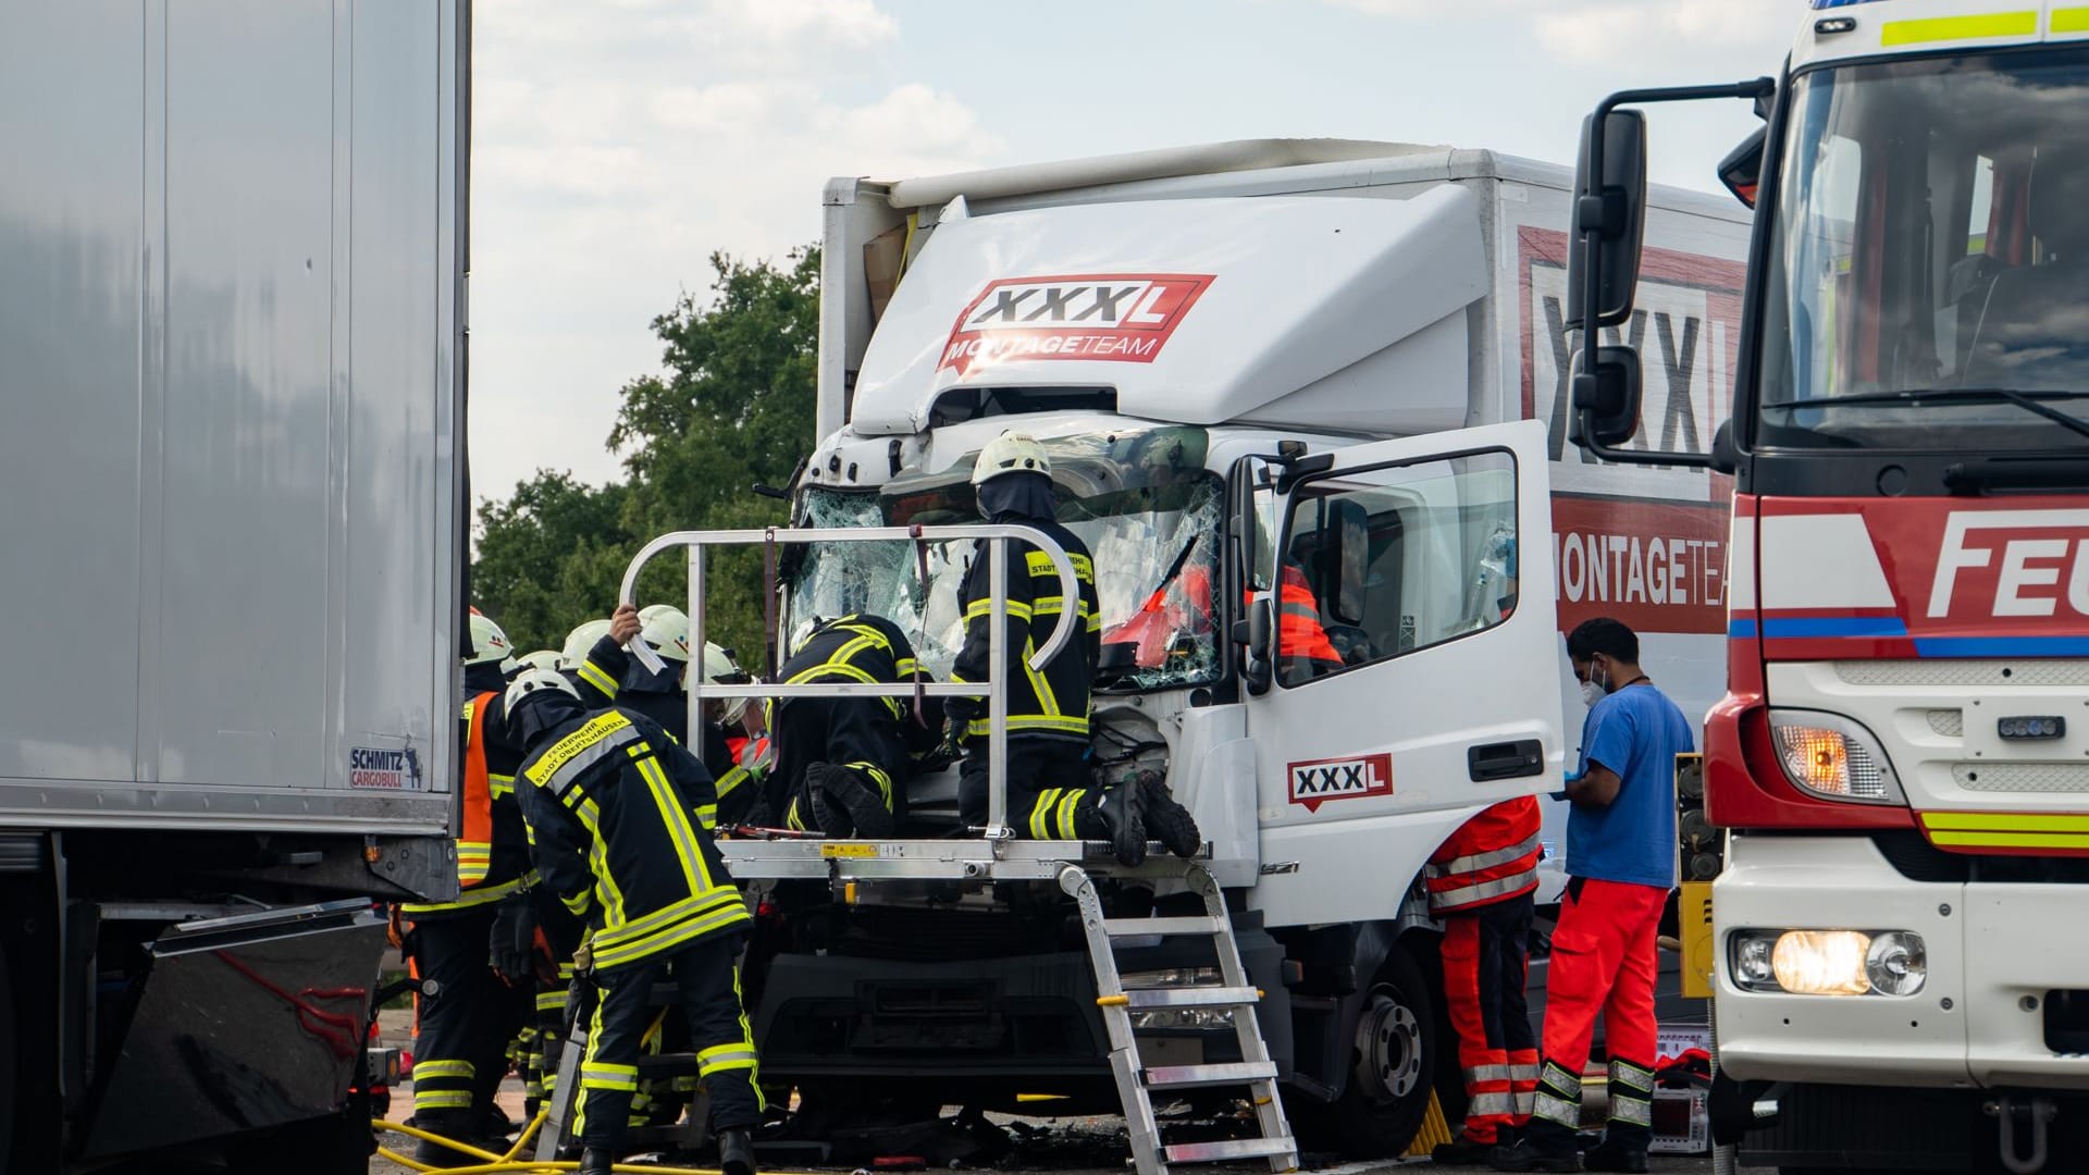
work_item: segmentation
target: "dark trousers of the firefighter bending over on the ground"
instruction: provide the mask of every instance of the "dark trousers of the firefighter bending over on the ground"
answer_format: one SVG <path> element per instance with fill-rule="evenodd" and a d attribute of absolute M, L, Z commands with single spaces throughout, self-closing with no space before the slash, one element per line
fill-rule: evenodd
<path fill-rule="evenodd" d="M 581 1058 L 585 1093 L 581 1142 L 614 1152 L 639 1091 L 639 1054 L 656 1010 L 654 983 L 673 976 L 696 1050 L 698 1079 L 710 1091 L 714 1131 L 752 1129 L 762 1119 L 754 1031 L 740 1004 L 737 935 L 712 935 L 677 951 L 597 970 L 595 1014 Z"/>

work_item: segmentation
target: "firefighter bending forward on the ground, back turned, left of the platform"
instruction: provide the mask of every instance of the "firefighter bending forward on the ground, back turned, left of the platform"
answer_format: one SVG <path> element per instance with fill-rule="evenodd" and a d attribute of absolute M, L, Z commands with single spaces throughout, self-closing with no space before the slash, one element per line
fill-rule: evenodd
<path fill-rule="evenodd" d="M 637 711 L 589 713 L 558 673 L 508 688 L 526 746 L 518 790 L 541 884 L 591 926 L 577 960 L 597 993 L 581 1060 L 581 1173 L 608 1175 L 639 1085 L 648 995 L 681 993 L 725 1175 L 754 1175 L 760 1123 L 754 1035 L 735 955 L 750 922 L 700 811 L 710 774 Z"/>

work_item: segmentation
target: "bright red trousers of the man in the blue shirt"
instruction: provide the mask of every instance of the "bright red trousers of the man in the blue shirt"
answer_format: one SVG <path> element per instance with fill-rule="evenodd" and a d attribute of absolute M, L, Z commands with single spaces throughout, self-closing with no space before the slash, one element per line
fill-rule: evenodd
<path fill-rule="evenodd" d="M 1611 1054 L 1611 1135 L 1644 1148 L 1654 1121 L 1654 972 L 1669 891 L 1573 878 L 1552 930 L 1546 972 L 1544 1066 L 1531 1108 L 1533 1139 L 1554 1144 L 1581 1123 L 1581 1073 L 1596 1016 Z"/>

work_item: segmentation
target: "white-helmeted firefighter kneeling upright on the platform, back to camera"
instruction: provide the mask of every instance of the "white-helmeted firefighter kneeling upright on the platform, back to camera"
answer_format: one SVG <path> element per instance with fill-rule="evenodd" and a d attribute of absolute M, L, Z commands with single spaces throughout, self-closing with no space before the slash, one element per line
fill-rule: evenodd
<path fill-rule="evenodd" d="M 1197 822 L 1168 794 L 1159 776 L 1141 776 L 1111 788 L 1090 786 L 1088 688 L 1101 654 L 1103 617 L 1095 600 L 1095 565 L 1086 544 L 1059 525 L 1051 487 L 1051 460 L 1036 439 L 1003 433 L 971 470 L 980 516 L 988 523 L 1026 525 L 1051 535 L 1080 581 L 1078 600 L 1063 600 L 1051 556 L 1030 544 L 1007 552 L 1007 663 L 999 677 L 1007 690 L 1007 811 L 1017 834 L 1040 840 L 1109 840 L 1118 859 L 1136 866 L 1147 857 L 1149 828 L 1170 851 L 1195 855 L 1203 840 Z M 992 661 L 990 544 L 980 539 L 959 585 L 965 644 L 953 677 L 986 682 Z M 1030 671 L 1038 640 L 1049 638 L 1065 608 L 1076 608 L 1074 640 Z M 988 817 L 988 702 L 948 698 L 953 734 L 963 738 L 959 815 L 967 826 Z M 963 723 L 961 728 L 957 723 Z"/>

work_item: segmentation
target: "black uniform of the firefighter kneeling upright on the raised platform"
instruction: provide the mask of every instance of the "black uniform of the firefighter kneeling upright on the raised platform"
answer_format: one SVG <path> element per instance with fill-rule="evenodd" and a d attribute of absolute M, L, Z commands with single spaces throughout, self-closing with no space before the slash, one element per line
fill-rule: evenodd
<path fill-rule="evenodd" d="M 1030 544 L 1009 544 L 1007 575 L 1007 665 L 1001 679 L 1009 696 L 1009 826 L 1040 840 L 1105 836 L 1095 813 L 1101 790 L 1090 788 L 1082 769 L 1088 748 L 1088 688 L 1103 648 L 1103 617 L 1095 598 L 1095 562 L 1086 544 L 1051 519 L 994 516 L 1051 535 L 1074 562 L 1080 600 L 1074 640 L 1042 673 L 1030 671 L 1030 656 L 1051 640 L 1067 602 L 1059 594 L 1059 573 L 1051 556 Z M 959 588 L 965 604 L 965 646 L 953 677 L 986 682 L 992 663 L 992 571 L 988 542 L 978 542 L 971 567 Z M 944 707 L 967 719 L 967 753 L 959 780 L 959 815 L 965 824 L 986 824 L 986 698 L 950 698 Z"/>

